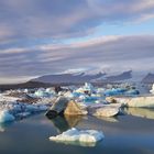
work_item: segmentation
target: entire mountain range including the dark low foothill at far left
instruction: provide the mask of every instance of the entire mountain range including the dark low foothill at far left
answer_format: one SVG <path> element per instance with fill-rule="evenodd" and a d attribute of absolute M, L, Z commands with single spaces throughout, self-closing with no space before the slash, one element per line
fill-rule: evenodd
<path fill-rule="evenodd" d="M 38 87 L 52 87 L 57 85 L 68 86 L 70 84 L 84 84 L 86 81 L 94 82 L 96 85 L 103 85 L 105 82 L 143 82 L 153 84 L 154 74 L 152 73 L 135 73 L 132 70 L 119 73 L 119 74 L 59 74 L 47 75 L 38 78 L 34 78 L 23 84 L 13 85 L 0 85 L 0 90 L 18 89 L 18 88 L 38 88 Z"/>

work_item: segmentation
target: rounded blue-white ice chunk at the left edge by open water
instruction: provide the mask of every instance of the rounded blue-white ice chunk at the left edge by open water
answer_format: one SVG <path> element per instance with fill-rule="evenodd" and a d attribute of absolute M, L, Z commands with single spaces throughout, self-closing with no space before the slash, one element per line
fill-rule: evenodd
<path fill-rule="evenodd" d="M 14 121 L 15 118 L 10 114 L 7 110 L 0 111 L 0 123 Z"/>

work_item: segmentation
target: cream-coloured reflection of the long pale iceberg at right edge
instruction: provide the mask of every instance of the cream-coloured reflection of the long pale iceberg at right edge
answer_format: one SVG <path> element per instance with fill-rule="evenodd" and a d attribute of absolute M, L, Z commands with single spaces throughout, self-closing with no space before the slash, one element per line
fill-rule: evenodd
<path fill-rule="evenodd" d="M 146 119 L 154 119 L 154 109 L 145 109 L 145 108 L 125 108 L 124 109 L 128 114 L 146 118 Z"/>

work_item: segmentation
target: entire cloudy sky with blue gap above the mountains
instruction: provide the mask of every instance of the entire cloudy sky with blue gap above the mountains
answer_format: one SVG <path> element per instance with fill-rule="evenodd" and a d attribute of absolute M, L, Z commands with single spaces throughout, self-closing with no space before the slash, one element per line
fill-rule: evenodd
<path fill-rule="evenodd" d="M 0 0 L 0 84 L 154 72 L 154 0 Z"/>

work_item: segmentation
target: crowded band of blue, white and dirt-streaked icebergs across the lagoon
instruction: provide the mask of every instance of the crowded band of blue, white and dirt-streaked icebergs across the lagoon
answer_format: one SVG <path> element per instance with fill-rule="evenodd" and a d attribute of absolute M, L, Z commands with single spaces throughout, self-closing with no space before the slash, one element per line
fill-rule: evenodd
<path fill-rule="evenodd" d="M 85 82 L 84 86 L 15 89 L 0 94 L 0 111 L 8 111 L 14 119 L 48 110 L 54 110 L 58 114 L 90 114 L 103 118 L 119 113 L 120 107 L 111 107 L 110 103 L 113 102 L 127 107 L 154 107 L 152 97 L 143 98 L 138 95 L 136 87 L 128 84 L 96 87 Z M 66 102 L 56 105 L 59 97 L 64 97 Z M 92 113 L 89 112 L 89 107 Z"/>

